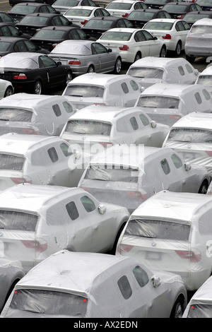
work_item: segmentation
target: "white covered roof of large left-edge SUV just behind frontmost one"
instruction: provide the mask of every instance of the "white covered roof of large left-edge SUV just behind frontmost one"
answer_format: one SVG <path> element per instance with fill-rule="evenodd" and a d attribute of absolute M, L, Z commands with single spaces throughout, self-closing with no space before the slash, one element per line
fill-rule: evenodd
<path fill-rule="evenodd" d="M 39 214 L 43 206 L 51 206 L 59 197 L 70 197 L 84 193 L 78 187 L 44 186 L 42 184 L 18 184 L 0 192 L 0 208 L 29 211 Z M 23 199 L 20 199 L 23 198 Z M 51 203 L 52 200 L 52 203 Z"/>

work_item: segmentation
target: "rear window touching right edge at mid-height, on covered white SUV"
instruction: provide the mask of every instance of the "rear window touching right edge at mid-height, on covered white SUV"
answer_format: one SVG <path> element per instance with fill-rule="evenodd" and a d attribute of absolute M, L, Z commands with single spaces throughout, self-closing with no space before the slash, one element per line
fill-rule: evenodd
<path fill-rule="evenodd" d="M 167 141 L 212 143 L 212 131 L 195 128 L 175 128 L 171 129 Z"/>

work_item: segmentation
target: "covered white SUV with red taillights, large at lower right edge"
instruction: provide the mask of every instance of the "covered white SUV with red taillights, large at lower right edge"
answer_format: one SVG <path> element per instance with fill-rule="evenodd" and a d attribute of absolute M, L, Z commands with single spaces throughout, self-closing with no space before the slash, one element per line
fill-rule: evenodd
<path fill-rule="evenodd" d="M 116 254 L 179 274 L 188 291 L 211 275 L 212 197 L 160 191 L 131 214 Z"/>

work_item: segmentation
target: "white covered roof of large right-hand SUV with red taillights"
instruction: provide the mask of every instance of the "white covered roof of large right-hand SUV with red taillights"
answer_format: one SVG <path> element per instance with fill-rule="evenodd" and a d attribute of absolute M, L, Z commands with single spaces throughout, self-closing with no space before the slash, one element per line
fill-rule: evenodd
<path fill-rule="evenodd" d="M 209 203 L 209 204 L 208 204 Z M 160 191 L 146 201 L 144 201 L 131 214 L 131 218 L 135 216 L 143 216 L 152 218 L 171 218 L 177 220 L 187 220 L 191 222 L 198 218 L 201 211 L 206 212 L 212 206 L 212 197 L 210 195 Z"/>

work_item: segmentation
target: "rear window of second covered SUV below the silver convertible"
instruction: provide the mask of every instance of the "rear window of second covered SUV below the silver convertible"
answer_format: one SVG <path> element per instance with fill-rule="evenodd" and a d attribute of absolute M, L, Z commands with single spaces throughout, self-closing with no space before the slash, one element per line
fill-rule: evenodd
<path fill-rule="evenodd" d="M 110 136 L 111 124 L 100 121 L 71 120 L 65 133 Z"/>

